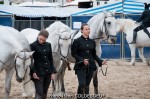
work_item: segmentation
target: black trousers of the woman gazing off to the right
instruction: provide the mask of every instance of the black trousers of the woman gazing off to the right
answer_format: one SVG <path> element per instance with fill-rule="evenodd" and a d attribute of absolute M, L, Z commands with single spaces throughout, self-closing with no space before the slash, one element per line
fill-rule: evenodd
<path fill-rule="evenodd" d="M 78 78 L 78 90 L 77 90 L 77 99 L 82 99 L 81 95 L 89 95 L 89 85 L 94 73 L 93 68 L 79 69 L 76 70 L 76 75 Z M 87 98 L 87 97 L 84 97 Z"/>

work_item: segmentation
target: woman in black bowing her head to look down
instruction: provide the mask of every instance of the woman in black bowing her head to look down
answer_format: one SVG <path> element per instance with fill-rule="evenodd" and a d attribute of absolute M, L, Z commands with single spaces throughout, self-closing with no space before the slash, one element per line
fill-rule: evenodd
<path fill-rule="evenodd" d="M 57 72 L 54 68 L 51 44 L 46 42 L 48 32 L 41 30 L 37 40 L 30 47 L 33 53 L 34 65 L 31 67 L 31 76 L 35 84 L 35 99 L 46 99 L 51 79 Z"/>

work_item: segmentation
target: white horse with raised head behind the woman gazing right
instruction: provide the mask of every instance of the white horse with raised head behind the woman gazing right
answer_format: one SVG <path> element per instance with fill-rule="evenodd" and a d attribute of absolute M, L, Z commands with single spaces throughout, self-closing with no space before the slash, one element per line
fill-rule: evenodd
<path fill-rule="evenodd" d="M 101 46 L 100 40 L 107 40 L 107 36 L 110 36 L 110 33 L 116 33 L 118 30 L 116 26 L 116 19 L 114 17 L 113 12 L 102 12 L 98 15 L 93 16 L 88 22 L 90 26 L 90 35 L 89 37 L 96 42 L 96 51 L 97 55 L 101 57 Z M 82 33 L 79 31 L 73 39 L 80 37 Z M 71 55 L 69 55 L 69 61 L 75 62 Z M 98 68 L 98 65 L 97 65 Z M 98 94 L 98 79 L 97 79 L 97 72 L 94 72 L 93 75 L 93 85 L 94 85 L 94 93 Z"/>

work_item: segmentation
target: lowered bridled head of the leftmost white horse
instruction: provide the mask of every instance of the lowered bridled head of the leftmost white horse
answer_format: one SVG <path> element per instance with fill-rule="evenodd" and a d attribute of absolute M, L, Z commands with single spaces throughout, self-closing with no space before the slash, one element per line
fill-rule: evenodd
<path fill-rule="evenodd" d="M 29 66 L 32 63 L 31 56 L 33 52 L 34 51 L 26 52 L 25 50 L 16 51 L 15 70 L 16 70 L 16 76 L 18 82 L 22 82 L 26 74 L 26 71 L 30 69 Z"/>

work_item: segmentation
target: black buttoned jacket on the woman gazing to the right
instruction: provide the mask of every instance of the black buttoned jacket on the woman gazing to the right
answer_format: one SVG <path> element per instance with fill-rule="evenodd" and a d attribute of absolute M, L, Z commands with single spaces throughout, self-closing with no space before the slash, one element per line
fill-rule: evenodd
<path fill-rule="evenodd" d="M 97 69 L 95 61 L 99 64 L 99 66 L 102 65 L 103 60 L 101 60 L 96 55 L 96 44 L 95 41 L 93 41 L 90 38 L 84 38 L 83 36 L 77 38 L 74 40 L 72 46 L 71 46 L 71 54 L 75 58 L 76 63 L 74 66 L 74 70 L 81 69 L 84 64 L 84 59 L 89 59 L 89 67 L 93 69 Z"/>

